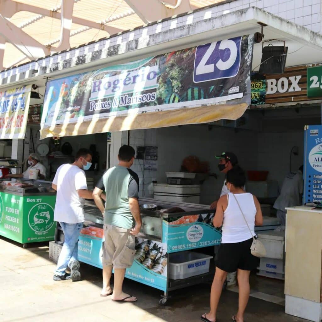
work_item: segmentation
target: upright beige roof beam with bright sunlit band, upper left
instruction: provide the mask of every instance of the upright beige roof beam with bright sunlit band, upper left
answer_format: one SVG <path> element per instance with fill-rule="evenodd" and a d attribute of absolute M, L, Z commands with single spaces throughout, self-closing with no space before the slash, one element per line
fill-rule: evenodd
<path fill-rule="evenodd" d="M 60 43 L 56 48 L 56 51 L 58 52 L 71 48 L 69 39 L 71 35 L 71 22 L 73 19 L 73 8 L 74 8 L 74 1 L 62 0 L 61 36 L 60 36 Z"/>

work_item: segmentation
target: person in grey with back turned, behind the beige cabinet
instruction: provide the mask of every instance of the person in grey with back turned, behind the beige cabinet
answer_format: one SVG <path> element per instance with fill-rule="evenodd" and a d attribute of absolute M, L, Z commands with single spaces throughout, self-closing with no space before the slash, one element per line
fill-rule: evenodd
<path fill-rule="evenodd" d="M 281 224 L 279 230 L 285 230 L 285 208 L 301 205 L 301 194 L 303 194 L 303 166 L 300 166 L 296 173 L 290 172 L 285 177 L 281 192 L 273 205 L 273 208 L 277 210 L 276 216 Z"/>

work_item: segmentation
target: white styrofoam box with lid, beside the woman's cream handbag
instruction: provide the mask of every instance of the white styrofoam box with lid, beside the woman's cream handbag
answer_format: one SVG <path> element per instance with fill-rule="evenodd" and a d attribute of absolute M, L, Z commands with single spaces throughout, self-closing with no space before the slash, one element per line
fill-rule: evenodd
<path fill-rule="evenodd" d="M 285 232 L 260 232 L 257 237 L 265 246 L 266 257 L 284 259 Z"/>

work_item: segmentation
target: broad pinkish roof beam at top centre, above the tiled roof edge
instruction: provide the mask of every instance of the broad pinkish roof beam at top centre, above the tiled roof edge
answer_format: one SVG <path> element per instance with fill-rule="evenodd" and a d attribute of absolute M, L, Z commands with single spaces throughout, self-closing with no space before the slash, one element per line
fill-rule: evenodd
<path fill-rule="evenodd" d="M 154 22 L 160 19 L 182 14 L 193 8 L 189 0 L 177 0 L 173 8 L 167 7 L 159 0 L 124 0 L 145 23 Z M 169 5 L 169 4 L 168 4 Z M 151 10 L 153 8 L 153 10 Z"/>

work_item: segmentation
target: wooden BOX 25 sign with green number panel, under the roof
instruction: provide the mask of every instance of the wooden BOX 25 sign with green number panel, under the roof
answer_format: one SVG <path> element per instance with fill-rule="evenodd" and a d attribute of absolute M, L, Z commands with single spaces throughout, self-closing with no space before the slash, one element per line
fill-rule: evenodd
<path fill-rule="evenodd" d="M 284 74 L 251 76 L 251 105 L 322 99 L 322 66 L 285 68 Z"/>

